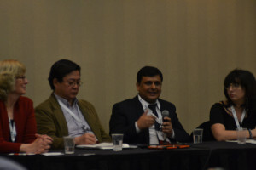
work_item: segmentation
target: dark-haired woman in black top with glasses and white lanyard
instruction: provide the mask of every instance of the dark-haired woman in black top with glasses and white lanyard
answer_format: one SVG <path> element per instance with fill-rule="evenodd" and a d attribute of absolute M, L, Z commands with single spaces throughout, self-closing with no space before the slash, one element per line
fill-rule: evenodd
<path fill-rule="evenodd" d="M 256 138 L 256 81 L 249 71 L 234 70 L 224 80 L 225 101 L 212 105 L 210 123 L 218 141 L 236 139 L 236 128 L 246 127 Z"/>

